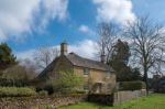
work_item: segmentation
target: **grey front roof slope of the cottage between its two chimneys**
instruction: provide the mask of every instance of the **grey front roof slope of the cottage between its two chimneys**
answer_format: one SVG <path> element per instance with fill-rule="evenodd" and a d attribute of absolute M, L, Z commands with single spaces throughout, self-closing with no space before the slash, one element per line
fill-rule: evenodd
<path fill-rule="evenodd" d="M 106 65 L 101 62 L 84 58 L 84 57 L 78 56 L 75 53 L 69 53 L 66 57 L 75 66 L 87 67 L 87 68 L 92 68 L 92 69 L 100 69 L 100 70 L 107 70 L 107 72 L 112 70 L 112 68 L 110 66 L 108 66 L 108 65 Z"/>

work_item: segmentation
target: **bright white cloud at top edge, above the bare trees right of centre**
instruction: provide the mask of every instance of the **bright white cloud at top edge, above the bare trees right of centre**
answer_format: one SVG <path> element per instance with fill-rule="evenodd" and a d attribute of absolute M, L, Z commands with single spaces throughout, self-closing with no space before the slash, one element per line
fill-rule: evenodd
<path fill-rule="evenodd" d="M 109 22 L 114 20 L 121 24 L 134 21 L 131 0 L 92 0 L 97 4 L 97 20 Z"/>

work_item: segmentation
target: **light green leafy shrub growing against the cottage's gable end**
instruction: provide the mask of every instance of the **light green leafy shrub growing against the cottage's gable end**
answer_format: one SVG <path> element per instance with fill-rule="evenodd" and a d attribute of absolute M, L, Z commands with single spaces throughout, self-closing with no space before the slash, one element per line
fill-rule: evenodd
<path fill-rule="evenodd" d="M 82 77 L 79 77 L 69 70 L 61 72 L 59 78 L 47 79 L 44 90 L 47 90 L 50 95 L 53 92 L 68 95 L 75 87 L 78 87 L 81 84 Z"/>

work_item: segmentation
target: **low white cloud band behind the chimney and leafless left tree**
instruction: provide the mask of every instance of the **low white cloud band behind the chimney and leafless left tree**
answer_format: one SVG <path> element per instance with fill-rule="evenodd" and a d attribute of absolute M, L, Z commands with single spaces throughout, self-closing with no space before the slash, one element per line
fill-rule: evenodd
<path fill-rule="evenodd" d="M 50 47 L 57 47 L 59 48 L 59 45 L 56 46 L 50 46 Z M 35 48 L 34 50 L 29 50 L 25 52 L 20 52 L 20 53 L 15 53 L 18 59 L 25 59 L 25 58 L 30 58 L 31 61 L 33 59 L 34 53 L 35 53 Z M 86 58 L 96 58 L 96 54 L 97 54 L 97 43 L 95 41 L 91 40 L 85 40 L 81 42 L 78 42 L 76 44 L 69 45 L 68 44 L 68 53 L 69 52 L 74 52 L 82 57 Z"/>

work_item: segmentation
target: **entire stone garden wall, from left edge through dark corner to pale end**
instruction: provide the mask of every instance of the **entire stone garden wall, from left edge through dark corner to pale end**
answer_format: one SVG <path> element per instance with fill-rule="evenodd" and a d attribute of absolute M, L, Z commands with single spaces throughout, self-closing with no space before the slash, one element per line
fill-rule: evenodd
<path fill-rule="evenodd" d="M 55 109 L 59 106 L 78 103 L 80 101 L 94 101 L 109 106 L 120 105 L 124 101 L 146 95 L 145 90 L 118 91 L 113 95 L 72 95 L 72 96 L 45 96 L 45 97 L 3 97 L 0 98 L 0 109 L 44 109 L 46 106 Z"/>

